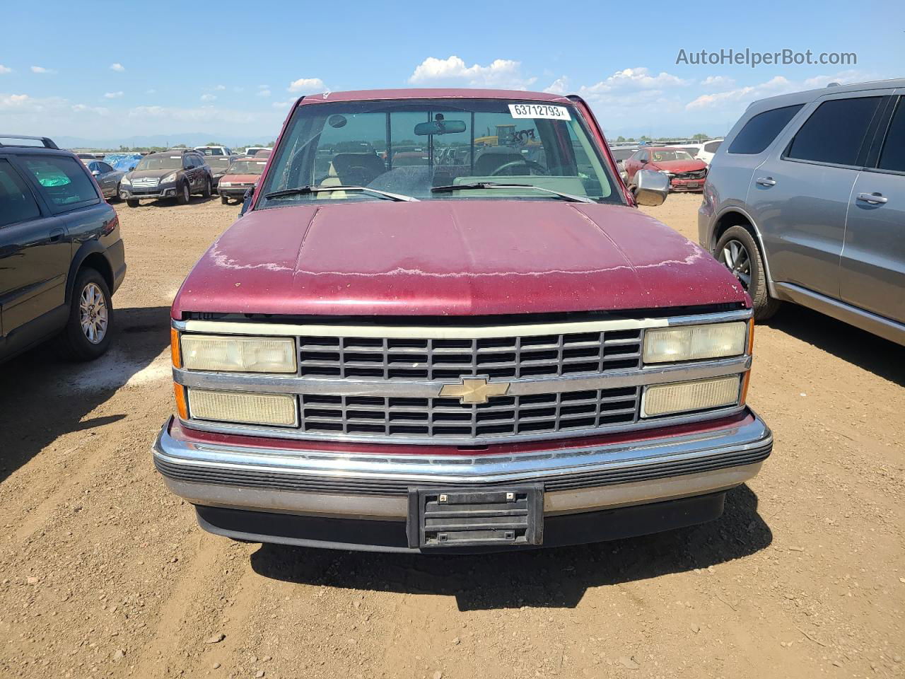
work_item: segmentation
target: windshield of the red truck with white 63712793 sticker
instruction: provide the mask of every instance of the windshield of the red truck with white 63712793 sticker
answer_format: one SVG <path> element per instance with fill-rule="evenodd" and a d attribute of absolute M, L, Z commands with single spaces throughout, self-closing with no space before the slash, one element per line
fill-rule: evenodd
<path fill-rule="evenodd" d="M 233 171 L 233 170 L 231 170 Z M 299 186 L 367 186 L 420 200 L 557 200 L 528 186 L 432 192 L 480 182 L 541 186 L 621 203 L 571 104 L 505 99 L 317 103 L 294 111 L 262 195 Z M 331 191 L 262 198 L 261 207 L 379 200 Z"/>

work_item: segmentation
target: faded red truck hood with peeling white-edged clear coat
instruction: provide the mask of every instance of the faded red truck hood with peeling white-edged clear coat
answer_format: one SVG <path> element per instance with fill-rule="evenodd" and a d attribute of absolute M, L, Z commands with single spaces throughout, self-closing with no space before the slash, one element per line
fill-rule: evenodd
<path fill-rule="evenodd" d="M 632 207 L 534 200 L 255 210 L 195 264 L 187 312 L 490 315 L 748 304 L 727 269 Z"/>

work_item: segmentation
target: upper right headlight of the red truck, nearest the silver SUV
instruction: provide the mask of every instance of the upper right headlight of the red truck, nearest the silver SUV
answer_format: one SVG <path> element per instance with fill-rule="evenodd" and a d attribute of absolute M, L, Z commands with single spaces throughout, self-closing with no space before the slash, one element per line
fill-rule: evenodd
<path fill-rule="evenodd" d="M 745 352 L 743 320 L 709 325 L 683 325 L 644 331 L 644 363 L 718 359 Z"/>

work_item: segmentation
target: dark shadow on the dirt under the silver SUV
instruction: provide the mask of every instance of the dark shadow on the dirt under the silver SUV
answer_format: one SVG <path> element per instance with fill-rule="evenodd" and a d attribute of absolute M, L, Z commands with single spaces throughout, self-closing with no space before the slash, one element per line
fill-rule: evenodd
<path fill-rule="evenodd" d="M 776 316 L 764 322 L 878 377 L 905 386 L 905 347 L 895 342 L 795 304 L 783 304 Z"/>

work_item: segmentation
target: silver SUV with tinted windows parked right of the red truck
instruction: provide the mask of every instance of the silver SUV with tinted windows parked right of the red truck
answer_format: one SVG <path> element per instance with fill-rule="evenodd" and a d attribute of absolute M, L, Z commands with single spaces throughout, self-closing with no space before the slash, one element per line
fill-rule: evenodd
<path fill-rule="evenodd" d="M 755 318 L 794 301 L 905 344 L 905 79 L 752 103 L 710 164 L 698 230 Z"/>

